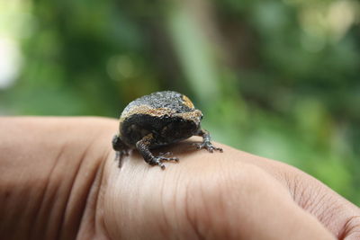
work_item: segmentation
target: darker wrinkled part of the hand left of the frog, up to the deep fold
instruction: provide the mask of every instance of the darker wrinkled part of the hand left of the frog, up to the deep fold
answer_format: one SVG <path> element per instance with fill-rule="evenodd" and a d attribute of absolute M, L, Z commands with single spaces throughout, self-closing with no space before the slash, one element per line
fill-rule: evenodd
<path fill-rule="evenodd" d="M 88 229 L 95 228 L 102 160 L 113 134 L 109 123 L 0 118 L 1 239 L 94 238 Z"/>

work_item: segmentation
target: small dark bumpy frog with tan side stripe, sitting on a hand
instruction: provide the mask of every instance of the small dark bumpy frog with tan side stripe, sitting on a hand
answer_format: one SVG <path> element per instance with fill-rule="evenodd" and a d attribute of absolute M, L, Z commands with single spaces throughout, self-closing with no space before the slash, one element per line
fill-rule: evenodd
<path fill-rule="evenodd" d="M 165 169 L 163 161 L 179 161 L 167 154 L 153 156 L 151 148 L 166 146 L 192 136 L 201 136 L 202 143 L 194 144 L 198 149 L 209 152 L 220 147 L 212 146 L 210 134 L 202 129 L 202 111 L 194 108 L 193 102 L 184 94 L 172 91 L 151 93 L 142 96 L 122 111 L 119 133 L 112 138 L 112 148 L 117 156 L 128 154 L 129 148 L 137 148 L 150 165 Z"/>

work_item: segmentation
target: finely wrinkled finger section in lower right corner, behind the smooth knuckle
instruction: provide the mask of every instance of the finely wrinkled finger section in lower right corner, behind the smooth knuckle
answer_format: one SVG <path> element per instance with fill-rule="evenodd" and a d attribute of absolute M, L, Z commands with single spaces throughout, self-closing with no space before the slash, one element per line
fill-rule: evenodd
<path fill-rule="evenodd" d="M 293 200 L 302 209 L 320 219 L 338 239 L 360 239 L 359 208 L 306 173 L 290 167 L 287 173 Z"/>

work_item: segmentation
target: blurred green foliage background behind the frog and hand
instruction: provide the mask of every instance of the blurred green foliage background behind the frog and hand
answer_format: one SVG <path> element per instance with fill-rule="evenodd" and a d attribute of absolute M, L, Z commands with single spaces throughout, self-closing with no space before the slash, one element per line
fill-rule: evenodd
<path fill-rule="evenodd" d="M 0 0 L 0 114 L 118 117 L 188 95 L 216 141 L 360 205 L 360 4 Z"/>

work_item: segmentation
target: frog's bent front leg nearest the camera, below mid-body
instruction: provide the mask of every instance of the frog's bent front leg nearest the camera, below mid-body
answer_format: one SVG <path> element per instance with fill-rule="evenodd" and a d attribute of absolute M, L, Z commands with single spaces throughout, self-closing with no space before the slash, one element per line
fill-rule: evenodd
<path fill-rule="evenodd" d="M 150 165 L 158 165 L 161 167 L 161 169 L 164 170 L 165 164 L 163 164 L 162 161 L 179 161 L 177 157 L 165 157 L 167 154 L 153 156 L 149 150 L 149 147 L 151 147 L 154 141 L 155 139 L 152 133 L 150 133 L 136 143 L 136 148 L 138 148 L 139 153 L 144 158 L 145 162 Z"/>

